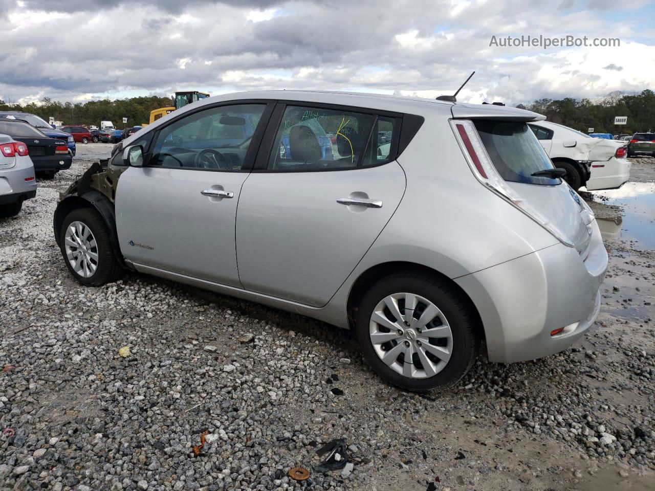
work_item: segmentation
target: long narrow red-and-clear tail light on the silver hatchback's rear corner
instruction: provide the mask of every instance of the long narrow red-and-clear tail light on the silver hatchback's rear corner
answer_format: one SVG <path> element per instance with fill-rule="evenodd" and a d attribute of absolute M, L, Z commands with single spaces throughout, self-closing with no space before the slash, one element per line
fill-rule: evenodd
<path fill-rule="evenodd" d="M 546 217 L 539 213 L 523 196 L 514 191 L 505 180 L 500 177 L 491 158 L 487 154 L 482 141 L 480 140 L 476 126 L 470 120 L 451 120 L 451 127 L 457 137 L 466 162 L 476 179 L 489 191 L 495 192 L 515 208 L 525 213 L 529 218 L 546 229 L 553 237 L 567 247 L 574 247 L 573 242 L 561 232 L 555 225 L 550 223 Z"/>

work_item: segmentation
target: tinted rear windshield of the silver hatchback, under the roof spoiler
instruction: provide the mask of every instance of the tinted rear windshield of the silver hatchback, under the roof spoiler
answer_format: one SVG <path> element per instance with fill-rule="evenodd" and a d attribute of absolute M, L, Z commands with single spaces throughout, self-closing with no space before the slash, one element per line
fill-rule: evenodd
<path fill-rule="evenodd" d="M 496 170 L 506 181 L 557 185 L 551 177 L 531 175 L 553 169 L 546 152 L 525 122 L 475 120 L 474 124 Z"/>

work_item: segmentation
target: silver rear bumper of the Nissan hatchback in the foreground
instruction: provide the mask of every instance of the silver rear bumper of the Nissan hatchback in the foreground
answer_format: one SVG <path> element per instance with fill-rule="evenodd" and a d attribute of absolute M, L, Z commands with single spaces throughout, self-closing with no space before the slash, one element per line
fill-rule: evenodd
<path fill-rule="evenodd" d="M 593 222 L 585 261 L 575 249 L 556 244 L 455 280 L 481 316 L 489 360 L 527 361 L 571 346 L 598 315 L 607 262 Z"/>

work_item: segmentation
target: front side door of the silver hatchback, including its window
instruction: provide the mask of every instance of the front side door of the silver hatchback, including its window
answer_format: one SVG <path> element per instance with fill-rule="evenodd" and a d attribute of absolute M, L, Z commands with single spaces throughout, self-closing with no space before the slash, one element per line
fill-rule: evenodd
<path fill-rule="evenodd" d="M 146 165 L 122 173 L 117 189 L 116 221 L 126 259 L 240 286 L 236 205 L 266 109 L 265 103 L 210 107 L 155 130 Z"/>

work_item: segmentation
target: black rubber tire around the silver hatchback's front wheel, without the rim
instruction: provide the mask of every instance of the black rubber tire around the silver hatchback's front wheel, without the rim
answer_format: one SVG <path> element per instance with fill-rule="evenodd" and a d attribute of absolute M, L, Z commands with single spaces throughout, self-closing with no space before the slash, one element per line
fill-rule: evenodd
<path fill-rule="evenodd" d="M 96 239 L 98 265 L 96 271 L 86 278 L 73 269 L 73 266 L 71 266 L 71 263 L 69 263 L 66 257 L 65 231 L 74 221 L 79 221 L 86 225 Z M 93 208 L 74 209 L 65 217 L 59 235 L 60 250 L 62 251 L 62 257 L 64 257 L 64 264 L 69 272 L 71 272 L 71 275 L 73 275 L 73 278 L 79 283 L 89 286 L 101 286 L 105 283 L 115 282 L 124 274 L 125 270 L 113 253 L 110 233 L 105 221 Z"/>

